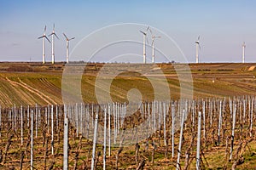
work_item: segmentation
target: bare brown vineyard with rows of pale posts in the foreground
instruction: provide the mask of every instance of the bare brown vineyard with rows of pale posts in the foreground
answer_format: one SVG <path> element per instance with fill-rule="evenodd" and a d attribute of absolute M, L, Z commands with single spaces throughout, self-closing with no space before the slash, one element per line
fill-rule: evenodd
<path fill-rule="evenodd" d="M 253 169 L 256 98 L 2 108 L 1 169 Z"/>

